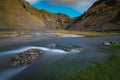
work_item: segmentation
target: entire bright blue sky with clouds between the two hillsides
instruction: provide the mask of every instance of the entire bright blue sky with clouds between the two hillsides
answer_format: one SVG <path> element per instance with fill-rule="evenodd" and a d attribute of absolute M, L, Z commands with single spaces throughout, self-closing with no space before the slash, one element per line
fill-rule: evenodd
<path fill-rule="evenodd" d="M 96 0 L 26 0 L 38 9 L 53 13 L 63 13 L 70 17 L 80 16 Z"/>

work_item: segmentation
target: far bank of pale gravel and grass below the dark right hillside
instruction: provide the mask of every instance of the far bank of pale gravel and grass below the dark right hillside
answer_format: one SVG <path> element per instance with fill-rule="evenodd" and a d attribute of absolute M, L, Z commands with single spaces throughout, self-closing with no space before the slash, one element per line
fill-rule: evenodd
<path fill-rule="evenodd" d="M 117 36 L 119 32 L 93 32 L 93 31 L 67 31 L 67 30 L 51 30 L 49 34 L 56 34 L 63 37 L 101 37 L 101 36 Z"/>

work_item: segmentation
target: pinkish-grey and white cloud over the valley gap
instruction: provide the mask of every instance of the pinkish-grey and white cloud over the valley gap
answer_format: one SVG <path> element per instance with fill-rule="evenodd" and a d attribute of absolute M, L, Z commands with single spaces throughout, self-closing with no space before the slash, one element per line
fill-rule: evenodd
<path fill-rule="evenodd" d="M 82 13 L 86 11 L 97 0 L 47 0 L 50 3 L 61 4 L 73 8 Z"/>

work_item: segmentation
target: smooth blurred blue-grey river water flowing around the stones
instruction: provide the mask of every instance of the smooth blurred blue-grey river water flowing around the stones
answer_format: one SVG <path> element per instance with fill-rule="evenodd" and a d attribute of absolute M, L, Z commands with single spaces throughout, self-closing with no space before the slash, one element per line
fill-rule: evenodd
<path fill-rule="evenodd" d="M 104 52 L 104 41 L 120 41 L 120 36 L 112 37 L 76 37 L 58 38 L 15 44 L 0 48 L 0 80 L 56 80 L 56 77 L 69 75 L 96 63 L 102 63 L 110 57 Z M 65 51 L 48 48 L 46 45 L 82 47 L 83 50 Z M 36 62 L 22 67 L 11 67 L 10 58 L 28 49 L 40 49 L 44 52 Z"/>

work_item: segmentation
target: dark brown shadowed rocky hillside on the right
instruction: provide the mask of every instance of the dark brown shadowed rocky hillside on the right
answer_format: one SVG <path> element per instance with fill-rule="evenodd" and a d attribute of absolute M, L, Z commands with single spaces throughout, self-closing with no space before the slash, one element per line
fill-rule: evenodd
<path fill-rule="evenodd" d="M 98 0 L 66 29 L 120 31 L 120 0 Z"/>

